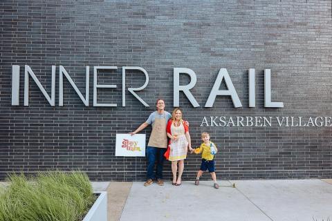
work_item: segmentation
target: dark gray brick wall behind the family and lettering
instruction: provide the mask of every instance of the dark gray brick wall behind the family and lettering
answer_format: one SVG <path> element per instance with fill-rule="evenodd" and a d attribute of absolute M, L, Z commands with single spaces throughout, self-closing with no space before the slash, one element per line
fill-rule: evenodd
<path fill-rule="evenodd" d="M 116 157 L 116 133 L 137 128 L 154 110 L 157 97 L 173 104 L 173 68 L 191 68 L 198 81 L 192 108 L 181 107 L 190 122 L 192 143 L 208 131 L 219 147 L 219 179 L 331 177 L 331 127 L 211 127 L 203 116 L 331 116 L 331 1 L 10 1 L 0 2 L 0 179 L 8 172 L 80 169 L 93 180 L 145 180 L 144 157 Z M 11 106 L 11 68 L 21 66 L 20 106 Z M 56 105 L 51 107 L 30 80 L 30 106 L 23 106 L 24 65 L 50 93 L 51 66 L 57 66 Z M 62 65 L 84 94 L 85 66 L 91 66 L 90 106 L 64 80 L 64 106 L 58 106 Z M 99 101 L 93 107 L 93 66 L 100 72 Z M 122 66 L 140 66 L 149 85 L 127 91 L 122 108 Z M 243 104 L 218 97 L 204 108 L 220 68 L 227 68 Z M 248 68 L 256 68 L 256 108 L 248 108 Z M 273 100 L 284 108 L 264 108 L 264 68 L 272 73 Z M 183 77 L 181 83 L 189 79 Z M 128 86 L 141 86 L 142 73 L 129 72 Z M 145 130 L 147 138 L 151 128 Z M 185 161 L 192 180 L 200 157 Z M 165 162 L 165 176 L 171 176 Z M 204 176 L 208 179 L 208 175 Z"/>

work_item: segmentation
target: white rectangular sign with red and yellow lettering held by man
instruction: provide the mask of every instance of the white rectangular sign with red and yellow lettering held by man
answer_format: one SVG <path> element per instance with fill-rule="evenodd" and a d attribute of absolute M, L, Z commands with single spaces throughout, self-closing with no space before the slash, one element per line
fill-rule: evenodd
<path fill-rule="evenodd" d="M 145 157 L 145 134 L 118 133 L 116 135 L 116 156 Z"/>

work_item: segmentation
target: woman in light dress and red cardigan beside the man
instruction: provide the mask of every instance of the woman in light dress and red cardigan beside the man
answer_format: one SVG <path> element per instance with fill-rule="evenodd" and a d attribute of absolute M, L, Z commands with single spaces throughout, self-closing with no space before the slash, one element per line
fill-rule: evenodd
<path fill-rule="evenodd" d="M 187 157 L 187 151 L 192 151 L 190 142 L 190 134 L 188 126 L 182 119 L 182 111 L 175 108 L 172 113 L 172 119 L 167 123 L 167 137 L 169 140 L 169 161 L 172 161 L 173 182 L 175 186 L 181 185 L 181 176 L 184 169 L 184 160 Z M 178 170 L 178 178 L 176 179 L 176 171 Z"/>

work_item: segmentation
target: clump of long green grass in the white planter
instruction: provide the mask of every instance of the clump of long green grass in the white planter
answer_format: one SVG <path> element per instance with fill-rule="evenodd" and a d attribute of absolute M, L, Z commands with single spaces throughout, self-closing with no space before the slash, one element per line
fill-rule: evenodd
<path fill-rule="evenodd" d="M 12 174 L 7 181 L 9 186 L 0 187 L 0 221 L 79 221 L 95 202 L 82 172 Z"/>

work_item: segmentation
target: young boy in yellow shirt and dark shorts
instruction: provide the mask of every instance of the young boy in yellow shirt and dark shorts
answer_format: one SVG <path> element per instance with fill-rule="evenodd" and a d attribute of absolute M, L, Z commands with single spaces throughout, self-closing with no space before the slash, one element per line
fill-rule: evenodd
<path fill-rule="evenodd" d="M 202 164 L 201 169 L 197 172 L 197 177 L 195 181 L 195 185 L 199 185 L 199 177 L 208 169 L 212 176 L 212 180 L 214 182 L 214 188 L 219 189 L 219 184 L 216 182 L 216 173 L 214 173 L 214 160 L 213 157 L 216 154 L 216 146 L 214 143 L 210 142 L 210 135 L 206 132 L 202 133 L 203 143 L 199 148 L 194 149 L 194 153 L 199 154 L 202 153 Z"/>

